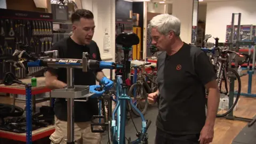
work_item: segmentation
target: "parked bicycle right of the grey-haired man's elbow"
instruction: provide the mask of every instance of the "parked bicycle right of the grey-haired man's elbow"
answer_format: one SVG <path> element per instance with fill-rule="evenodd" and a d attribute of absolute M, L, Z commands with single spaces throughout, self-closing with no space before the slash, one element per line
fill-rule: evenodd
<path fill-rule="evenodd" d="M 210 38 L 211 35 L 206 35 L 205 37 Z M 230 59 L 231 60 L 235 59 L 236 56 L 243 57 L 243 60 L 238 62 L 238 65 L 242 65 L 244 62 L 250 62 L 250 55 L 231 51 L 228 49 L 228 47 L 225 47 L 225 46 L 219 47 L 218 46 L 219 39 L 218 38 L 214 38 L 214 39 L 215 39 L 215 47 L 208 50 L 206 49 L 204 51 L 207 53 L 207 55 L 209 55 L 209 58 L 214 66 L 214 69 L 217 72 L 217 82 L 220 90 L 220 103 L 219 103 L 219 110 L 217 113 L 217 117 L 224 117 L 228 115 L 232 110 L 237 108 L 237 103 L 241 93 L 240 76 L 238 75 L 235 69 L 229 68 L 229 61 Z M 207 39 L 206 39 L 206 42 L 207 42 Z M 234 56 L 232 54 L 234 54 Z M 234 95 L 233 103 L 229 103 L 229 91 L 230 91 L 229 83 L 230 83 L 231 77 L 235 79 L 234 91 L 237 92 L 237 94 Z M 207 92 L 206 92 L 206 98 L 207 98 Z M 207 103 L 206 103 L 206 106 L 207 106 Z"/>

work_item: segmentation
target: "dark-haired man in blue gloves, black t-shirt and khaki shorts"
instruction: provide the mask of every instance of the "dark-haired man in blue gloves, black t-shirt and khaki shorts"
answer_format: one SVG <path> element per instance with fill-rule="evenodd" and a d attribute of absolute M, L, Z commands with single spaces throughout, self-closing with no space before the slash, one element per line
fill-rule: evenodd
<path fill-rule="evenodd" d="M 82 59 L 83 52 L 88 52 L 92 59 L 100 60 L 100 51 L 97 44 L 92 41 L 94 34 L 93 13 L 89 10 L 77 10 L 71 15 L 73 23 L 73 34 L 70 37 L 63 38 L 55 43 L 52 50 L 59 51 L 60 58 Z M 84 73 L 82 69 L 74 69 L 74 84 L 75 85 L 92 85 L 90 91 L 94 91 L 95 81 L 105 84 L 105 89 L 110 89 L 113 82 L 110 81 L 101 71 L 101 69 Z M 67 84 L 66 69 L 49 69 L 46 73 L 46 86 L 51 89 L 61 89 Z M 102 92 L 96 92 L 101 95 Z M 98 101 L 94 98 L 89 98 L 86 102 L 75 101 L 74 104 L 75 118 L 75 140 L 78 144 L 98 144 L 101 143 L 101 133 L 91 132 L 91 118 L 93 115 L 98 115 Z M 66 143 L 67 139 L 67 102 L 65 99 L 57 99 L 55 101 L 55 132 L 51 135 L 52 143 Z"/>

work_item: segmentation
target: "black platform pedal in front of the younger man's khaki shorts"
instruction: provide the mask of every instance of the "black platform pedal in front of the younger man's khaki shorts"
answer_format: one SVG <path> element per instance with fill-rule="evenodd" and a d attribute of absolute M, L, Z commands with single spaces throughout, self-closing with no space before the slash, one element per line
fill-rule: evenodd
<path fill-rule="evenodd" d="M 100 121 L 95 122 L 95 119 L 102 119 L 102 122 L 104 122 L 104 116 L 93 116 L 91 121 L 91 131 L 93 133 L 103 133 L 106 130 L 106 126 L 108 123 L 100 123 Z M 94 126 L 97 126 L 97 129 L 94 129 Z M 100 129 L 99 129 L 100 127 Z"/>

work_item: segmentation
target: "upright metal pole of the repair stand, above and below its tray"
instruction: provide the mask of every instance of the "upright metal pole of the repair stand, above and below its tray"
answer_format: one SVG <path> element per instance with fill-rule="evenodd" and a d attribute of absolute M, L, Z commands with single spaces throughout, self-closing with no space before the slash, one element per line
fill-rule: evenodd
<path fill-rule="evenodd" d="M 73 89 L 74 88 L 74 69 L 67 68 L 67 88 Z M 67 99 L 67 143 L 75 143 L 74 142 L 74 99 L 69 98 Z"/>

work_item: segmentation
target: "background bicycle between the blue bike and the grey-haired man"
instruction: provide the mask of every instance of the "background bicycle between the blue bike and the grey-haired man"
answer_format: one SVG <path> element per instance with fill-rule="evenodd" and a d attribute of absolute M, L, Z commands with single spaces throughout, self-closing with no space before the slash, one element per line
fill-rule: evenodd
<path fill-rule="evenodd" d="M 155 82 L 155 67 L 151 66 L 152 72 L 147 74 L 142 69 L 146 65 L 151 65 L 150 62 L 143 63 L 142 65 L 134 65 L 133 84 L 129 89 L 129 95 L 133 98 L 133 104 L 141 111 L 144 115 L 148 108 L 148 93 L 152 93 L 157 90 L 157 83 Z M 139 73 L 137 73 L 139 69 Z M 137 78 L 138 76 L 138 78 Z M 149 83 L 151 83 L 151 86 Z M 136 116 L 140 116 L 137 111 L 131 108 L 132 112 Z"/>

